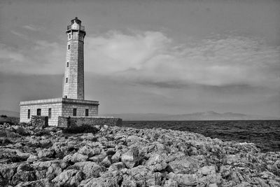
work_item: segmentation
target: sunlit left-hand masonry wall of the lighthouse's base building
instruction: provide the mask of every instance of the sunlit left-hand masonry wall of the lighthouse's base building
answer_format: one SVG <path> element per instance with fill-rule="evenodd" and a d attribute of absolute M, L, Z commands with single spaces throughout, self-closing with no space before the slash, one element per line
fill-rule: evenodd
<path fill-rule="evenodd" d="M 28 109 L 30 109 L 30 118 L 28 117 Z M 30 104 L 20 106 L 20 122 L 30 123 L 31 116 L 37 115 L 37 109 L 41 109 L 41 116 L 48 116 L 48 109 L 52 109 L 52 116 L 48 118 L 48 125 L 57 125 L 58 116 L 62 116 L 62 102 L 46 103 L 46 104 Z"/>

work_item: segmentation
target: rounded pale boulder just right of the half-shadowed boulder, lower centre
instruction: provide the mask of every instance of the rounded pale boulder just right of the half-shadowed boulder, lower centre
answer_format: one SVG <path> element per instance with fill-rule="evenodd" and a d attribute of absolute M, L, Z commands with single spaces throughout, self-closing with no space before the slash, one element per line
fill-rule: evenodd
<path fill-rule="evenodd" d="M 155 153 L 146 162 L 146 167 L 153 172 L 160 172 L 167 167 L 167 163 L 162 154 Z"/>

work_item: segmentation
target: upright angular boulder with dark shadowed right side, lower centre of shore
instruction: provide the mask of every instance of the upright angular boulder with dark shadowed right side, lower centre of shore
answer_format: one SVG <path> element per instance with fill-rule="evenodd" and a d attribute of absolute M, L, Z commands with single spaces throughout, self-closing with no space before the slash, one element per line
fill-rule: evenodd
<path fill-rule="evenodd" d="M 139 155 L 138 148 L 137 147 L 130 148 L 129 151 L 127 151 L 121 156 L 121 160 L 127 168 L 132 168 L 139 165 L 139 161 L 141 160 L 141 158 Z"/>

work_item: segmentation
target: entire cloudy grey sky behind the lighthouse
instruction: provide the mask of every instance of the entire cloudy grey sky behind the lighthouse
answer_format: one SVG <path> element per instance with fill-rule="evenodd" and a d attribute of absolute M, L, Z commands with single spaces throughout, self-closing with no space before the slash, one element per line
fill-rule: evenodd
<path fill-rule="evenodd" d="M 280 1 L 0 1 L 0 110 L 62 97 L 66 26 L 85 26 L 99 113 L 280 116 Z"/>

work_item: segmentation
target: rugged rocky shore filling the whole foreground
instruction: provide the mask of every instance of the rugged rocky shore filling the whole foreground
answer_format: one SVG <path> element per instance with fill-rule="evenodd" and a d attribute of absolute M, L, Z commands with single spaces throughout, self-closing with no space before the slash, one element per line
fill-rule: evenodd
<path fill-rule="evenodd" d="M 280 152 L 176 130 L 0 125 L 0 186 L 280 186 Z"/>

